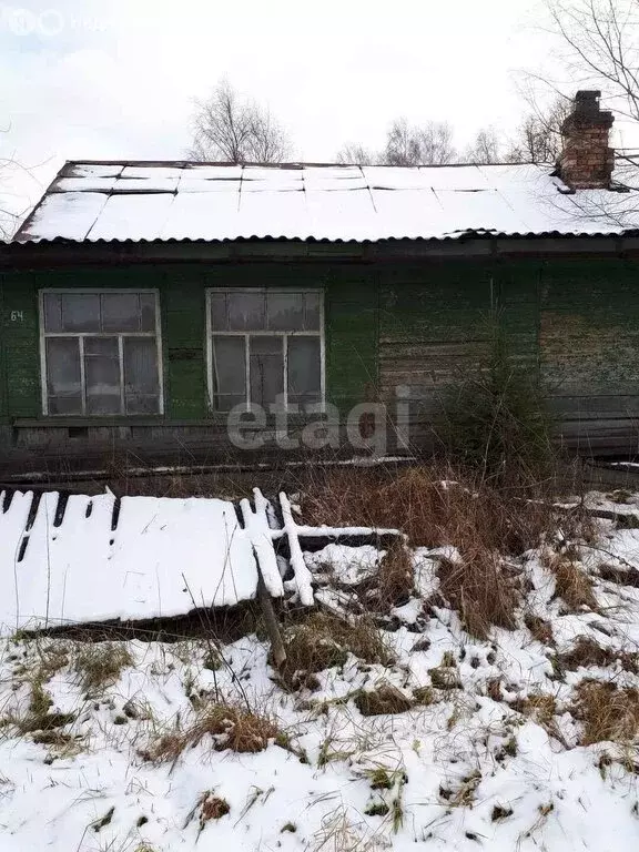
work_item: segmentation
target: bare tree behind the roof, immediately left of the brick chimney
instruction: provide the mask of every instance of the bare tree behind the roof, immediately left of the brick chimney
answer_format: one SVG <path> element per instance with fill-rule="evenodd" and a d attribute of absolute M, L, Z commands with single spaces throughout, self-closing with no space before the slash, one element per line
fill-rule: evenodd
<path fill-rule="evenodd" d="M 555 163 L 561 153 L 561 124 L 571 110 L 570 100 L 556 95 L 550 104 L 540 106 L 531 91 L 526 99 L 530 112 L 517 128 L 505 159 L 510 163 Z"/>

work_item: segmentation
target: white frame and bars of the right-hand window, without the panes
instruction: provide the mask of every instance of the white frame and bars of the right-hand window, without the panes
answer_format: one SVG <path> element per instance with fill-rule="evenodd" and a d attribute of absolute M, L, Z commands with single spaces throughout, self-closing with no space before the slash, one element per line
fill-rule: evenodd
<path fill-rule="evenodd" d="M 315 332 L 286 332 L 254 329 L 250 332 L 214 332 L 211 322 L 211 296 L 215 293 L 272 293 L 274 295 L 291 295 L 292 293 L 313 293 L 320 297 L 320 328 Z M 324 290 L 322 287 L 209 287 L 206 290 L 206 382 L 209 387 L 209 408 L 216 414 L 227 414 L 214 406 L 215 388 L 213 383 L 213 337 L 243 337 L 245 361 L 246 412 L 253 410 L 251 405 L 251 343 L 250 337 L 318 337 L 320 338 L 320 399 L 313 405 L 320 406 L 320 412 L 326 405 L 326 347 L 324 341 Z M 284 408 L 288 410 L 288 342 L 284 347 Z M 303 410 L 300 414 L 304 414 Z"/>

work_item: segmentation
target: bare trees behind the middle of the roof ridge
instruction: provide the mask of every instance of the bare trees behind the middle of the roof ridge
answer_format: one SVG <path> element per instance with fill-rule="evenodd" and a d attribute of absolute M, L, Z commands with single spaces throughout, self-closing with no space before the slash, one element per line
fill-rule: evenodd
<path fill-rule="evenodd" d="M 388 165 L 440 165 L 455 160 L 453 129 L 429 121 L 418 126 L 396 119 L 388 130 L 383 159 Z"/>

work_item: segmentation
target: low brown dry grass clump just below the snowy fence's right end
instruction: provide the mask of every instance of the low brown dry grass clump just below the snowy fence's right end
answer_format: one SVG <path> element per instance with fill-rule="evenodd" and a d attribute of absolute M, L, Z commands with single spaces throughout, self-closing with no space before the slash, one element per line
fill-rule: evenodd
<path fill-rule="evenodd" d="M 317 672 L 343 666 L 351 651 L 364 662 L 390 666 L 394 656 L 381 631 L 366 617 L 346 621 L 313 612 L 284 632 L 286 662 L 281 674 L 291 682 L 298 672 Z"/>

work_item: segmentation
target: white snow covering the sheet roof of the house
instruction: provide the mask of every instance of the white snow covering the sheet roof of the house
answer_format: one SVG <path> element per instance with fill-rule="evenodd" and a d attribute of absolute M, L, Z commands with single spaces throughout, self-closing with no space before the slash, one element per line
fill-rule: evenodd
<path fill-rule="evenodd" d="M 68 163 L 16 240 L 378 241 L 619 234 L 639 227 L 639 166 L 570 193 L 549 165 Z"/>

